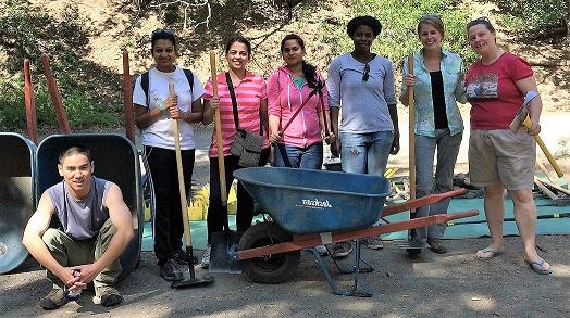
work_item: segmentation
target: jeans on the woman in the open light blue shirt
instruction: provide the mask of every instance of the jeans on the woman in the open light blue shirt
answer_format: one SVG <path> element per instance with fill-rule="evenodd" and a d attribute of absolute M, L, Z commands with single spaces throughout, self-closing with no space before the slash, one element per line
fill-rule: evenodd
<path fill-rule="evenodd" d="M 463 132 L 450 136 L 449 129 L 435 129 L 435 137 L 416 135 L 416 198 L 454 190 L 454 167 L 462 136 Z M 436 148 L 437 165 L 434 179 L 433 161 Z M 447 199 L 422 206 L 412 214 L 412 217 L 446 214 L 449 201 Z M 425 241 L 428 238 L 441 239 L 445 227 L 445 224 L 439 224 L 411 230 L 411 239 L 420 241 Z"/>

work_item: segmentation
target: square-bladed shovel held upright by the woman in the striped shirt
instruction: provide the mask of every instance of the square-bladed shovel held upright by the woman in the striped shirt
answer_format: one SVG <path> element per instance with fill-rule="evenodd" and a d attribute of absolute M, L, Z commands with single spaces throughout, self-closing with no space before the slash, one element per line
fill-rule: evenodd
<path fill-rule="evenodd" d="M 215 52 L 210 51 L 210 69 L 212 73 L 212 92 L 218 97 L 218 75 L 215 74 Z M 227 189 L 225 185 L 224 150 L 222 143 L 222 125 L 220 123 L 220 109 L 215 109 L 215 138 L 218 143 L 218 173 L 220 175 L 220 196 L 222 207 L 225 208 L 224 229 L 211 233 L 210 272 L 240 274 L 241 265 L 237 258 L 240 234 L 230 230 L 227 224 Z"/>

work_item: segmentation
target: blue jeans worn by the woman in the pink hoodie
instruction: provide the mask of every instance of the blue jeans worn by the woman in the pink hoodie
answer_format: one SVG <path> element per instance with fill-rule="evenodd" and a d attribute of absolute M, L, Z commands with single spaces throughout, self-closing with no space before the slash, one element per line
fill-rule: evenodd
<path fill-rule="evenodd" d="M 275 166 L 321 169 L 323 165 L 323 143 L 317 142 L 307 148 L 278 143 L 274 148 Z"/>

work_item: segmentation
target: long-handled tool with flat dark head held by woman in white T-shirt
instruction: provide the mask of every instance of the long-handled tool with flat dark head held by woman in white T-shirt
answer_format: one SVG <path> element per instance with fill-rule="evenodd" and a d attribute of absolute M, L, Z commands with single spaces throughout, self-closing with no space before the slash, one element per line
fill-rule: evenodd
<path fill-rule="evenodd" d="M 169 84 L 170 96 L 174 96 L 174 82 Z M 182 153 L 181 153 L 181 137 L 178 135 L 178 119 L 174 119 L 174 147 L 176 151 L 176 170 L 178 173 L 178 190 L 181 193 L 181 209 L 182 209 L 182 221 L 184 224 L 184 243 L 186 245 L 186 258 L 188 260 L 188 267 L 190 277 L 179 281 L 173 281 L 171 287 L 175 289 L 194 288 L 200 285 L 207 285 L 213 282 L 211 276 L 203 278 L 197 278 L 194 271 L 194 251 L 191 246 L 190 227 L 188 224 L 188 202 L 186 201 L 186 187 L 184 186 L 184 170 L 182 167 Z"/>

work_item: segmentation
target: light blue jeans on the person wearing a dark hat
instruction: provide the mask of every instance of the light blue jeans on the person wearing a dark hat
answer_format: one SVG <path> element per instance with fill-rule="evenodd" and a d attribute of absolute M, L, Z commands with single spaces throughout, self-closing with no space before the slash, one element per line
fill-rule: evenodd
<path fill-rule="evenodd" d="M 340 132 L 343 171 L 384 176 L 394 131 Z"/>

